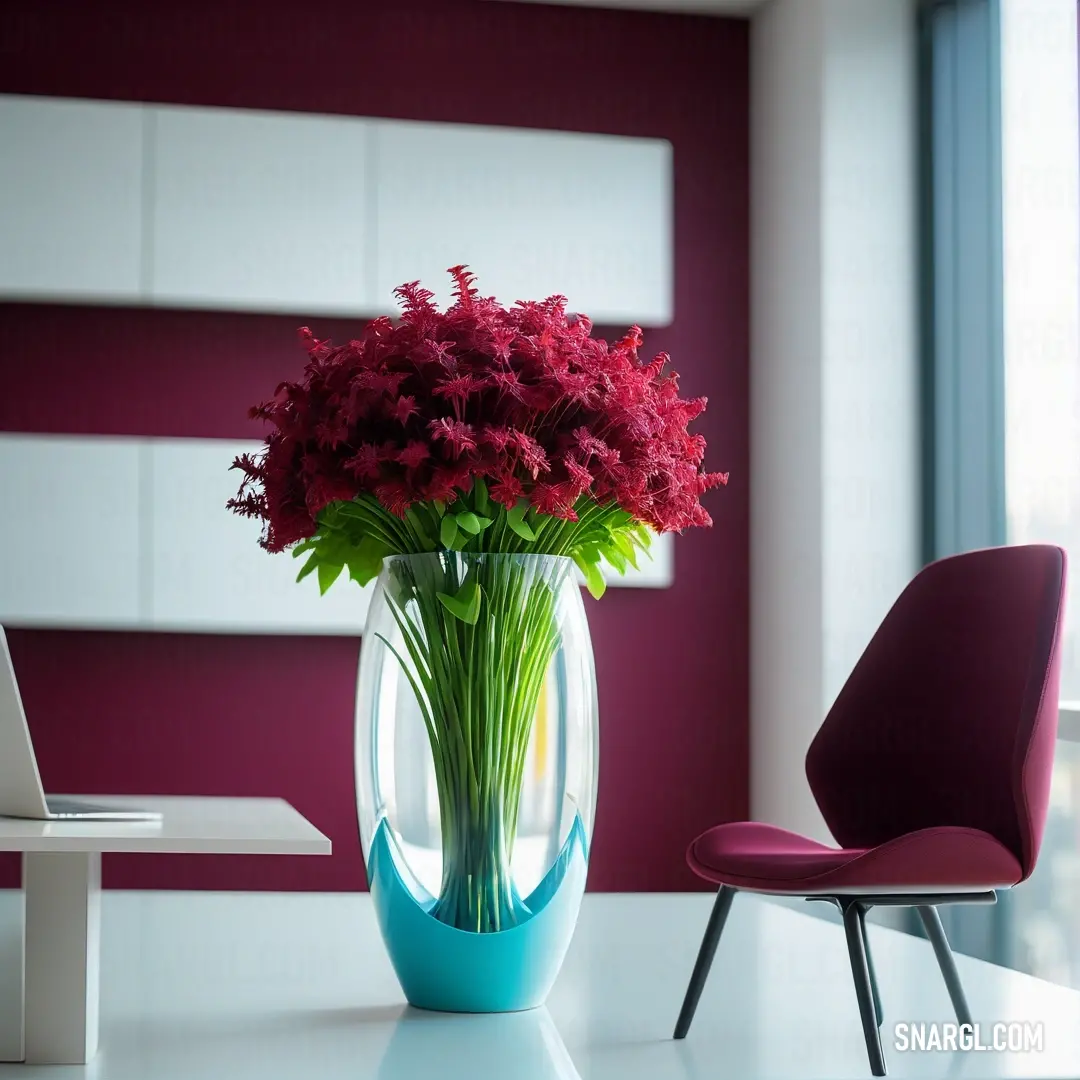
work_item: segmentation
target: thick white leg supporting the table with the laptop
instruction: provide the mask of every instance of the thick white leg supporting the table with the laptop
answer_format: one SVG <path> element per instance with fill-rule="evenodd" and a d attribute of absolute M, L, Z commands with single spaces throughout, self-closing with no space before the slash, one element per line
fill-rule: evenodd
<path fill-rule="evenodd" d="M 27 851 L 23 891 L 25 1059 L 85 1064 L 97 1052 L 102 855 Z"/>

